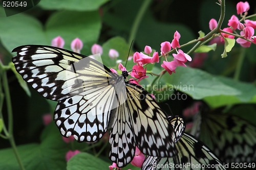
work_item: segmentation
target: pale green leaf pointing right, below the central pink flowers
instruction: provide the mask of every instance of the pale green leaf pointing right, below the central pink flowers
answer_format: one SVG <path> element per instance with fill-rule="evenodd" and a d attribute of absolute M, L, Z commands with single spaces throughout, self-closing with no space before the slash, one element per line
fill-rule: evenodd
<path fill-rule="evenodd" d="M 205 71 L 190 67 L 178 67 L 176 74 L 163 76 L 166 84 L 172 84 L 172 89 L 177 89 L 195 100 L 204 99 L 207 96 L 238 95 L 240 91 L 221 82 L 216 76 Z"/>

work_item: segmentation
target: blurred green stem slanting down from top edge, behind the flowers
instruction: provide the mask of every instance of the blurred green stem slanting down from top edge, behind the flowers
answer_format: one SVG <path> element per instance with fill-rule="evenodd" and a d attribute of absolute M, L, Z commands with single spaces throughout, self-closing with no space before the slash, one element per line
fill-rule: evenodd
<path fill-rule="evenodd" d="M 139 28 L 139 25 L 140 25 L 140 22 L 141 22 L 141 19 L 144 15 L 144 13 L 146 12 L 146 9 L 148 9 L 148 6 L 150 5 L 152 0 L 145 0 L 140 9 L 139 9 L 139 12 L 137 14 L 137 16 L 135 17 L 135 20 L 133 22 L 133 26 L 132 26 L 132 29 L 131 29 L 131 33 L 130 33 L 130 36 L 129 36 L 129 39 L 128 39 L 128 42 L 129 43 L 132 43 L 133 40 L 135 40 L 135 36 L 137 34 L 137 31 L 138 31 L 138 28 Z M 133 44 L 132 44 L 133 45 Z"/>

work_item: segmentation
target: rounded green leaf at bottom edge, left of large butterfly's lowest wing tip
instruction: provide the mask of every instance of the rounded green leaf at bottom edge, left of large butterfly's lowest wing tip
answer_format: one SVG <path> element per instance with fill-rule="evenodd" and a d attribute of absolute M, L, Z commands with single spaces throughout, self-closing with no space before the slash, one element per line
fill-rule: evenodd
<path fill-rule="evenodd" d="M 68 161 L 67 170 L 84 169 L 84 167 L 88 170 L 101 170 L 108 169 L 110 165 L 111 163 L 105 162 L 91 154 L 79 153 Z"/>

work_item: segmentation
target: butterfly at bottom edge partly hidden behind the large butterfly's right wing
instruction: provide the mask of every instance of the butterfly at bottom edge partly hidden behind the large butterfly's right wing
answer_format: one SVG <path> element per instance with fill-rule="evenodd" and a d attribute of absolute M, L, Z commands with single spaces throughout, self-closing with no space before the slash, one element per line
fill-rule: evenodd
<path fill-rule="evenodd" d="M 146 156 L 142 164 L 142 170 L 225 169 L 223 163 L 204 143 L 184 132 L 184 120 L 181 117 L 169 116 L 168 119 L 175 129 L 176 135 L 178 135 L 177 139 L 180 138 L 175 141 L 178 153 L 169 158 Z"/>

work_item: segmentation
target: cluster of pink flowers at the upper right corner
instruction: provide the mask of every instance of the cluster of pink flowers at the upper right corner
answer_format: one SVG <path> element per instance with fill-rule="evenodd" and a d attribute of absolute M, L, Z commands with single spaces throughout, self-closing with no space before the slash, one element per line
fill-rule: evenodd
<path fill-rule="evenodd" d="M 248 2 L 239 2 L 237 4 L 237 14 L 243 18 L 239 20 L 236 15 L 232 15 L 228 20 L 228 28 L 224 28 L 223 31 L 227 33 L 221 33 L 221 41 L 224 41 L 224 38 L 233 39 L 235 36 L 230 35 L 229 33 L 233 33 L 236 30 L 240 31 L 240 36 L 242 38 L 237 38 L 236 41 L 243 47 L 249 47 L 251 42 L 256 43 L 256 36 L 254 35 L 254 29 L 256 29 L 256 21 L 250 19 L 244 19 L 247 15 L 247 11 L 250 9 Z M 244 23 L 242 23 L 243 21 Z M 210 30 L 214 30 L 217 27 L 217 21 L 215 19 L 211 19 L 209 21 Z"/>

